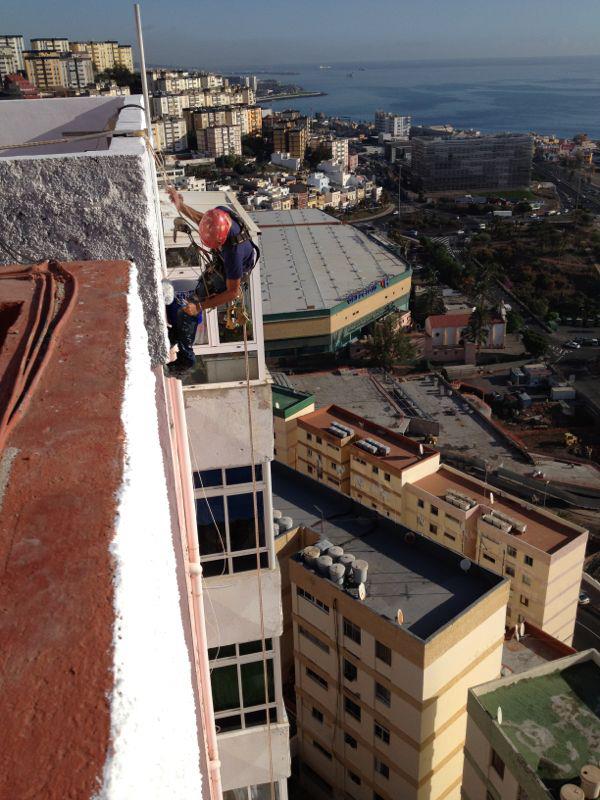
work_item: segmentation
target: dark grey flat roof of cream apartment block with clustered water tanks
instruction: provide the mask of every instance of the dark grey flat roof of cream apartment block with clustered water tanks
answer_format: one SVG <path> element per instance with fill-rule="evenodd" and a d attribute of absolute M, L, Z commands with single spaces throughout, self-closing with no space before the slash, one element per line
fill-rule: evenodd
<path fill-rule="evenodd" d="M 402 609 L 403 628 L 423 641 L 505 581 L 474 564 L 463 572 L 460 555 L 418 535 L 407 542 L 406 528 L 275 462 L 273 506 L 367 561 L 364 604 L 394 623 Z"/>

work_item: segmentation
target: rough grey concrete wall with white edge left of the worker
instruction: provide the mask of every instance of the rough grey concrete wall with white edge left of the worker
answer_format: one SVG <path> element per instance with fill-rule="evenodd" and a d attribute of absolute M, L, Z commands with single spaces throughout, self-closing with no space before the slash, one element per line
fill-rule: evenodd
<path fill-rule="evenodd" d="M 154 172 L 143 140 L 132 141 L 130 149 L 128 154 L 0 158 L 2 239 L 26 262 L 133 261 L 156 366 L 166 362 L 168 348 Z M 14 258 L 0 249 L 0 263 L 11 262 Z"/>

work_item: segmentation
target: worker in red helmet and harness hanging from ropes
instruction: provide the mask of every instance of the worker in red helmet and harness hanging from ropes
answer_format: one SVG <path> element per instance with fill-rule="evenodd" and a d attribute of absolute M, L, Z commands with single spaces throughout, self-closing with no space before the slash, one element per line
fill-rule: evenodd
<path fill-rule="evenodd" d="M 176 189 L 171 187 L 168 192 L 177 211 L 198 225 L 202 244 L 212 251 L 211 265 L 194 291 L 167 306 L 169 338 L 171 344 L 178 346 L 177 358 L 167 364 L 167 372 L 170 377 L 181 379 L 191 372 L 196 361 L 193 345 L 202 312 L 239 296 L 259 250 L 243 220 L 230 208 L 219 206 L 202 213 L 186 205 Z"/>

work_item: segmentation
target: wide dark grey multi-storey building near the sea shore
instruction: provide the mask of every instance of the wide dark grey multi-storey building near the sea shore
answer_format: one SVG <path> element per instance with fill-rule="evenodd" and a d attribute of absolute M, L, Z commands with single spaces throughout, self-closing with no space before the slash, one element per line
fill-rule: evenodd
<path fill-rule="evenodd" d="M 529 134 L 445 135 L 412 140 L 411 172 L 423 192 L 516 189 L 529 186 Z"/>

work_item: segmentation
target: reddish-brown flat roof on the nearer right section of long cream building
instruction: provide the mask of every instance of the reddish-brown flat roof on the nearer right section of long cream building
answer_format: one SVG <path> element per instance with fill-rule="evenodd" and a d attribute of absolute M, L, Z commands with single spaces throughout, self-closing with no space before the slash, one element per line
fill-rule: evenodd
<path fill-rule="evenodd" d="M 444 495 L 449 489 L 456 489 L 468 494 L 486 510 L 493 508 L 525 522 L 526 530 L 523 533 L 515 534 L 515 541 L 525 542 L 545 553 L 554 553 L 583 533 L 582 529 L 569 525 L 560 517 L 543 513 L 532 505 L 527 506 L 524 501 L 520 502 L 517 498 L 503 495 L 493 486 L 486 491 L 481 481 L 443 465 L 432 475 L 415 481 L 413 486 L 423 489 L 440 500 L 444 499 Z M 490 503 L 490 491 L 494 496 L 493 505 Z"/>

